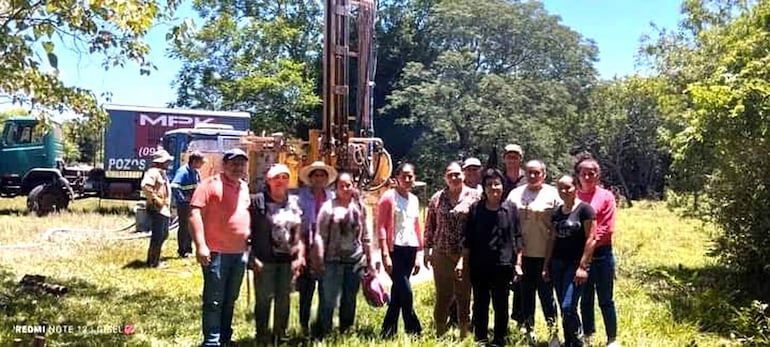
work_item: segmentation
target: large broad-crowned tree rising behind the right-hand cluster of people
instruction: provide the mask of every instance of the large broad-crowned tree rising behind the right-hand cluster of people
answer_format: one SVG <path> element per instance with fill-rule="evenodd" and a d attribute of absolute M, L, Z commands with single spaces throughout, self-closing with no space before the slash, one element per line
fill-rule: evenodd
<path fill-rule="evenodd" d="M 407 64 L 388 105 L 430 129 L 412 155 L 446 161 L 518 142 L 566 168 L 560 120 L 586 104 L 595 46 L 538 2 L 447 0 L 426 21 L 437 58 Z"/>

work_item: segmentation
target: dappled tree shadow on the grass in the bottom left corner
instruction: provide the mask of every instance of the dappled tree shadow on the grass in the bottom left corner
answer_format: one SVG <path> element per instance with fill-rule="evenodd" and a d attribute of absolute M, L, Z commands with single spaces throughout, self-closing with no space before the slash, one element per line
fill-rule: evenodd
<path fill-rule="evenodd" d="M 66 294 L 56 296 L 36 287 L 22 287 L 17 277 L 0 267 L 0 339 L 19 338 L 29 345 L 34 334 L 16 331 L 15 327 L 46 324 L 72 329 L 49 331 L 45 334 L 49 345 L 135 346 L 150 343 L 130 335 L 141 333 L 173 340 L 197 328 L 198 311 L 189 298 L 151 291 L 126 293 L 118 287 L 77 278 L 48 278 L 48 282 L 68 288 Z M 124 333 L 127 325 L 135 327 L 135 331 Z"/>

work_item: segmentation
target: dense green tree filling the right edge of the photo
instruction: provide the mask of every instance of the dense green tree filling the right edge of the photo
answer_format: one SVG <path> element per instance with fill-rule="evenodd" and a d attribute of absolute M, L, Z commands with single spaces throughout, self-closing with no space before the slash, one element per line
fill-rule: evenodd
<path fill-rule="evenodd" d="M 685 101 L 681 130 L 671 136 L 674 170 L 703 183 L 709 197 L 706 217 L 723 230 L 715 251 L 724 264 L 750 275 L 754 283 L 766 283 L 770 2 L 748 6 L 746 1 L 692 0 L 683 10 L 679 36 L 688 40 L 668 41 L 670 46 L 659 44 L 662 49 L 651 51 L 655 62 L 664 62 L 659 72 L 669 90 Z M 681 59 L 682 52 L 692 59 Z M 680 78 L 682 71 L 693 71 L 697 78 Z"/>

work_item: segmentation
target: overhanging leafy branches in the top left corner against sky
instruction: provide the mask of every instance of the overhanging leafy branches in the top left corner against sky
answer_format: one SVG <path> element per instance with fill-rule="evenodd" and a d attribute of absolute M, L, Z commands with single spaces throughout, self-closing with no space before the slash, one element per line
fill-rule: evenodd
<path fill-rule="evenodd" d="M 95 95 L 65 85 L 58 75 L 58 54 L 76 49 L 104 57 L 104 67 L 133 61 L 139 72 L 155 66 L 143 41 L 152 25 L 173 14 L 179 1 L 28 1 L 0 3 L 0 98 L 30 106 L 46 116 L 72 111 L 93 121 L 106 120 Z"/>

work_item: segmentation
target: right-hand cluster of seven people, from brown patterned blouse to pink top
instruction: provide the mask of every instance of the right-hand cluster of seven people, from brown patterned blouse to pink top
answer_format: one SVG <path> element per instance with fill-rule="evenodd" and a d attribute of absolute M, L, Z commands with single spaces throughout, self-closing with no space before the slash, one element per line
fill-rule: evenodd
<path fill-rule="evenodd" d="M 472 328 L 476 341 L 488 341 L 491 300 L 491 344 L 505 345 L 509 314 L 534 343 L 537 294 L 549 327 L 549 345 L 561 345 L 557 328 L 561 312 L 563 345 L 582 346 L 596 331 L 598 294 L 607 345 L 618 346 L 612 253 L 615 197 L 600 187 L 599 163 L 579 156 L 574 172 L 557 177 L 554 186 L 545 183 L 545 163 L 530 160 L 522 165 L 523 154 L 518 145 L 506 146 L 504 171 L 485 169 L 476 158 L 450 163 L 444 172 L 445 188 L 428 203 L 424 262 L 433 266 L 436 333 L 447 331 L 451 309 L 461 337 Z"/>

